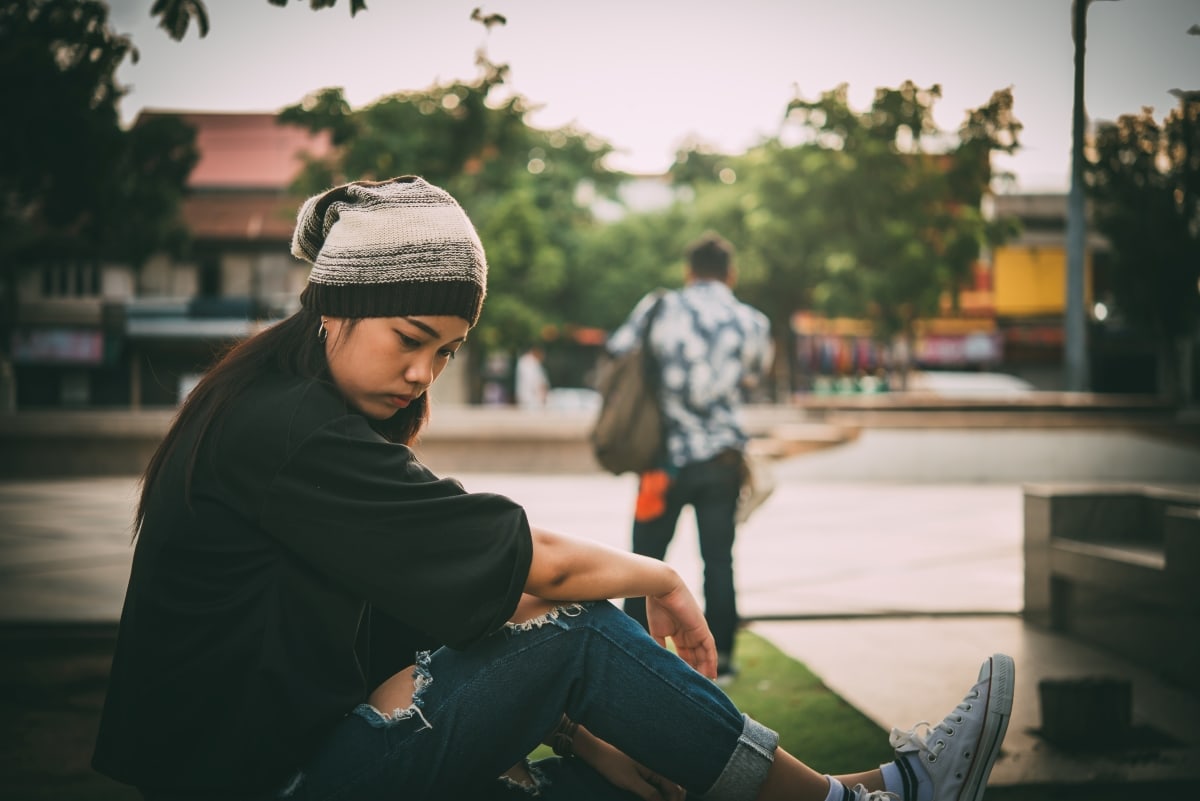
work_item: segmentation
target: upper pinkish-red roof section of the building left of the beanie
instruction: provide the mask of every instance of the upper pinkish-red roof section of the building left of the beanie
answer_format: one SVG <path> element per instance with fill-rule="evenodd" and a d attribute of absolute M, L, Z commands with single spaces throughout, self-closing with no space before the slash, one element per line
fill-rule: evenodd
<path fill-rule="evenodd" d="M 301 153 L 322 157 L 332 151 L 328 133 L 280 125 L 271 113 L 144 110 L 138 121 L 167 115 L 196 128 L 200 159 L 187 181 L 192 189 L 284 189 L 304 164 Z"/>

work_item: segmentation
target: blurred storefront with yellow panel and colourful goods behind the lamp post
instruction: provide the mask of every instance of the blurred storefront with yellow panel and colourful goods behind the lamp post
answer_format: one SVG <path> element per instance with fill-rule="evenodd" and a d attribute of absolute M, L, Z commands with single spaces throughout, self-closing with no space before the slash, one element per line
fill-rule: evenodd
<path fill-rule="evenodd" d="M 1016 217 L 1021 233 L 985 253 L 958 297 L 943 297 L 938 317 L 916 323 L 911 343 L 878 342 L 866 320 L 793 314 L 794 390 L 878 391 L 895 384 L 905 363 L 922 371 L 1003 372 L 1040 390 L 1061 390 L 1067 198 L 1000 195 L 992 211 Z M 1153 392 L 1153 350 L 1106 315 L 1110 285 L 1108 242 L 1092 233 L 1085 253 L 1092 389 Z"/>

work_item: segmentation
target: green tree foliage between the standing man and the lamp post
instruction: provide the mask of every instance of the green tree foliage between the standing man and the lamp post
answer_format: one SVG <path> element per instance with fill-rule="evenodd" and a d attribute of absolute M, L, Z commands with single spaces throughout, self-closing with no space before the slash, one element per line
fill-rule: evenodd
<path fill-rule="evenodd" d="M 911 336 L 956 295 L 982 248 L 1015 230 L 980 210 L 997 177 L 991 153 L 1018 146 L 1012 92 L 968 110 L 953 135 L 934 124 L 940 95 L 905 83 L 857 112 L 841 85 L 788 104 L 798 144 L 775 138 L 731 156 L 689 143 L 670 177 L 690 199 L 622 221 L 592 247 L 625 253 L 644 291 L 670 275 L 646 261 L 677 265 L 690 237 L 719 231 L 738 248 L 739 294 L 772 319 L 780 353 L 798 309 L 870 319 L 882 342 Z"/>

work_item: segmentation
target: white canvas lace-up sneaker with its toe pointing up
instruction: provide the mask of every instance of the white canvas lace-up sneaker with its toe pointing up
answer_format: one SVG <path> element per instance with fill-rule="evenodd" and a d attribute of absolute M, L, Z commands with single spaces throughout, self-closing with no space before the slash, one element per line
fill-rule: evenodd
<path fill-rule="evenodd" d="M 890 742 L 896 749 L 896 764 L 905 775 L 906 797 L 918 797 L 908 791 L 910 785 L 917 789 L 923 781 L 932 782 L 934 801 L 979 801 L 983 797 L 1013 713 L 1014 679 L 1013 657 L 995 654 L 979 668 L 979 680 L 967 697 L 941 723 L 929 728 L 929 723 L 923 722 L 907 731 L 892 729 Z M 918 735 L 917 729 L 922 727 L 926 731 Z M 928 778 L 912 775 L 917 760 Z"/>

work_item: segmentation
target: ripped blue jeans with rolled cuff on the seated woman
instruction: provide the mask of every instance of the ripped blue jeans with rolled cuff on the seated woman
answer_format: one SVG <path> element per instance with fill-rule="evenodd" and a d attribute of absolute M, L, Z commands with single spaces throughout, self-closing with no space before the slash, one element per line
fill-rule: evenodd
<path fill-rule="evenodd" d="M 779 740 L 607 602 L 560 607 L 464 651 L 422 654 L 416 671 L 412 706 L 360 705 L 277 797 L 635 797 L 577 758 L 534 763 L 533 787 L 497 778 L 565 712 L 689 797 L 749 800 Z"/>

